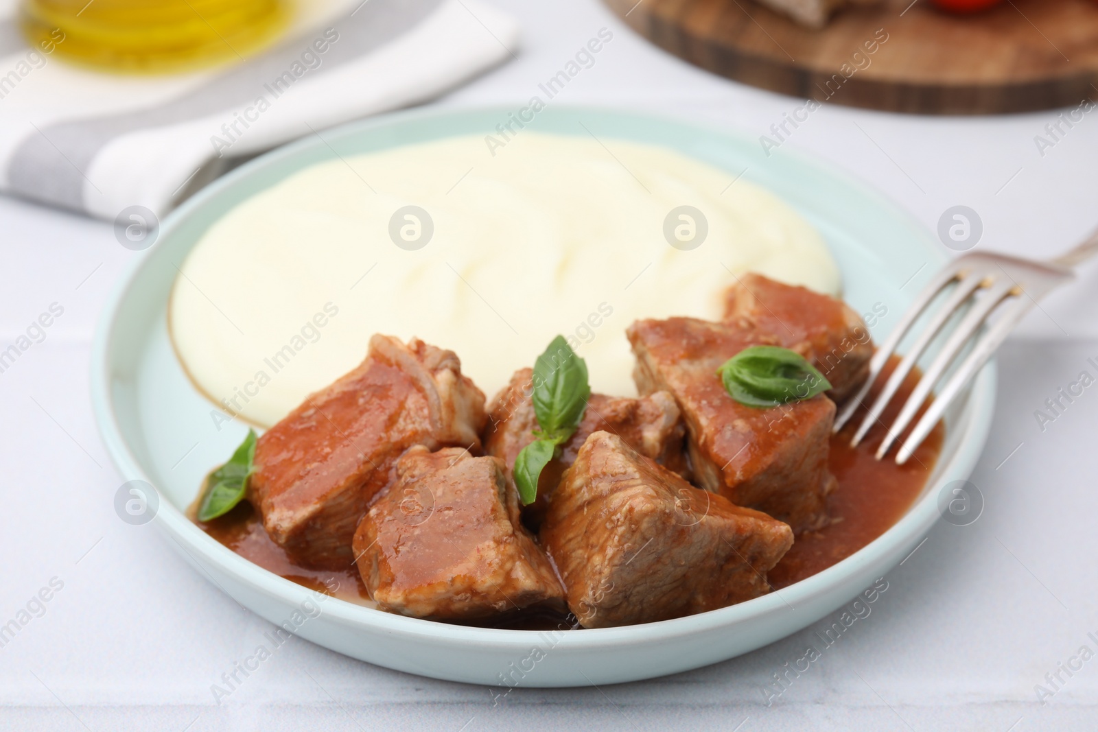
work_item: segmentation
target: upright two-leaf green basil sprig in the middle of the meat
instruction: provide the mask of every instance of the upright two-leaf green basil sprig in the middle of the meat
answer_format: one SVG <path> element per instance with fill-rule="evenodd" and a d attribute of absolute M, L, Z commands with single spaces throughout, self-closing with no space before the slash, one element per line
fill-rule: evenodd
<path fill-rule="evenodd" d="M 515 458 L 515 486 L 524 506 L 538 497 L 538 477 L 558 448 L 575 433 L 591 396 L 587 364 L 557 336 L 534 362 L 534 414 L 537 438 Z"/>

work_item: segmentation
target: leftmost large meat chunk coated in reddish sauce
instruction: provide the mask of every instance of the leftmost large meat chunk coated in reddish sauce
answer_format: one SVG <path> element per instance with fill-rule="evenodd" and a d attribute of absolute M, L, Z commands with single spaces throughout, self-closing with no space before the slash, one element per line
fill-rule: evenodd
<path fill-rule="evenodd" d="M 298 562 L 347 568 L 370 499 L 413 444 L 480 448 L 484 394 L 451 351 L 373 336 L 362 363 L 259 438 L 248 497 Z"/>

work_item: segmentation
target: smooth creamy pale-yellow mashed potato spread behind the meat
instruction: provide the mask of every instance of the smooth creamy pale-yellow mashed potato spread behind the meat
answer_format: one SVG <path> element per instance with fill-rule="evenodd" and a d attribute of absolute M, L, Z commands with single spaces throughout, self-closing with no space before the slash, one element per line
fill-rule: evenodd
<path fill-rule="evenodd" d="M 605 147 L 604 147 L 605 145 Z M 748 270 L 838 294 L 819 234 L 772 193 L 669 149 L 523 131 L 345 157 L 245 201 L 181 264 L 170 329 L 195 384 L 270 426 L 371 334 L 452 349 L 491 397 L 557 334 L 628 395 L 635 319 L 716 318 Z"/>

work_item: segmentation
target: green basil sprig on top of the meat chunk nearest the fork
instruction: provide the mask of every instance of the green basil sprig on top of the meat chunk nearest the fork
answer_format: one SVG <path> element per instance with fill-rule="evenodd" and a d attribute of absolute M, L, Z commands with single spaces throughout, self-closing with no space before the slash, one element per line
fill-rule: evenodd
<path fill-rule="evenodd" d="M 803 356 L 777 346 L 752 346 L 725 361 L 717 373 L 729 396 L 751 407 L 776 407 L 831 388 Z"/>

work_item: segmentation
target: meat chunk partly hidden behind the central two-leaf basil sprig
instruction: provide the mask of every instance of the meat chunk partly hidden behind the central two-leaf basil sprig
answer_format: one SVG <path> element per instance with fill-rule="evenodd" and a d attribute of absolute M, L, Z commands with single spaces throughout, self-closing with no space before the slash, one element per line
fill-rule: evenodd
<path fill-rule="evenodd" d="M 519 451 L 534 441 L 538 427 L 531 391 L 533 369 L 519 369 L 493 401 L 484 429 L 484 452 L 502 459 L 507 476 Z M 561 457 L 551 461 L 538 478 L 538 498 L 524 507 L 528 525 L 537 528 L 545 517 L 547 497 L 557 487 L 564 469 L 572 464 L 587 436 L 595 430 L 618 435 L 631 448 L 690 477 L 683 452 L 685 429 L 679 418 L 675 399 L 666 392 L 656 392 L 640 399 L 592 394 L 587 410 L 575 435 L 561 446 Z"/>

